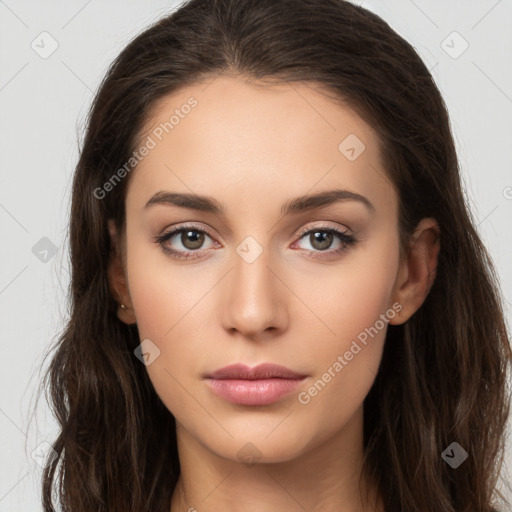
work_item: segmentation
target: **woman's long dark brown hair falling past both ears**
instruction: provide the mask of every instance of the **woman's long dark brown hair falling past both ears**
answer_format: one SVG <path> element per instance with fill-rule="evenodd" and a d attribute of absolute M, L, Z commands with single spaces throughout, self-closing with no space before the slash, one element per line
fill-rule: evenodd
<path fill-rule="evenodd" d="M 109 68 L 74 174 L 70 318 L 44 378 L 60 425 L 44 510 L 57 501 L 67 512 L 169 510 L 180 471 L 174 417 L 134 356 L 137 328 L 118 320 L 107 275 L 107 223 L 125 227 L 130 176 L 104 197 L 94 191 L 129 160 L 158 99 L 219 73 L 321 84 L 380 137 L 401 249 L 420 219 L 438 221 L 434 285 L 406 324 L 389 326 L 364 402 L 364 476 L 388 512 L 494 510 L 511 362 L 497 277 L 430 73 L 385 21 L 343 0 L 191 0 Z M 469 454 L 457 469 L 441 456 L 454 441 Z"/>

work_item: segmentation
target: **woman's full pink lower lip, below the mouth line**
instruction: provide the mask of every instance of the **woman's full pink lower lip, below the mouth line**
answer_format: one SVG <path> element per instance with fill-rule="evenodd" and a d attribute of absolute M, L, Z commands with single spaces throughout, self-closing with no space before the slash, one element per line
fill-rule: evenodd
<path fill-rule="evenodd" d="M 239 405 L 269 405 L 292 393 L 301 379 L 207 379 L 211 389 L 229 402 Z"/>

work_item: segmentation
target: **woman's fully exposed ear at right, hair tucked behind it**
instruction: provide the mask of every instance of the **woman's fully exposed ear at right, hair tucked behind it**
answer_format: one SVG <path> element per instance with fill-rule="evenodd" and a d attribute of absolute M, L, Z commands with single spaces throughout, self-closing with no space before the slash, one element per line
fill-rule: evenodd
<path fill-rule="evenodd" d="M 440 229 L 436 220 L 422 219 L 411 236 L 408 252 L 400 263 L 394 298 L 402 309 L 390 319 L 390 324 L 407 322 L 427 298 L 436 277 L 440 248 Z"/>

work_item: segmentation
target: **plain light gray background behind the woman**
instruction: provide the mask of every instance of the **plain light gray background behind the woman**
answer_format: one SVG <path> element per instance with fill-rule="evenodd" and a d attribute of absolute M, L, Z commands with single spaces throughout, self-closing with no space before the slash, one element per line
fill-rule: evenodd
<path fill-rule="evenodd" d="M 412 43 L 441 89 L 467 196 L 502 282 L 510 326 L 512 1 L 357 3 Z M 32 421 L 29 413 L 42 354 L 66 318 L 65 230 L 79 128 L 110 62 L 175 5 L 0 0 L 0 512 L 41 510 L 41 470 L 31 453 L 54 439 L 56 426 L 44 401 Z M 43 51 L 41 37 L 48 37 L 40 36 L 43 31 L 59 45 L 46 59 L 31 47 L 35 40 Z M 465 43 L 454 31 L 469 45 L 460 56 Z M 46 50 L 50 43 L 45 39 Z M 32 252 L 43 237 L 57 247 L 46 263 Z M 511 451 L 509 442 L 509 468 Z"/>

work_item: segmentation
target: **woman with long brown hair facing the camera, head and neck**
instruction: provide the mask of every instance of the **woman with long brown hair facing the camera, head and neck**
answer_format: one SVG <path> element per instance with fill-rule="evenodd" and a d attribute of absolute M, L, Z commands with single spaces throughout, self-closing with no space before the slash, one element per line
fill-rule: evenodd
<path fill-rule="evenodd" d="M 192 0 L 94 100 L 43 505 L 496 510 L 509 337 L 444 102 L 342 0 Z M 59 464 L 62 466 L 59 468 Z"/>

